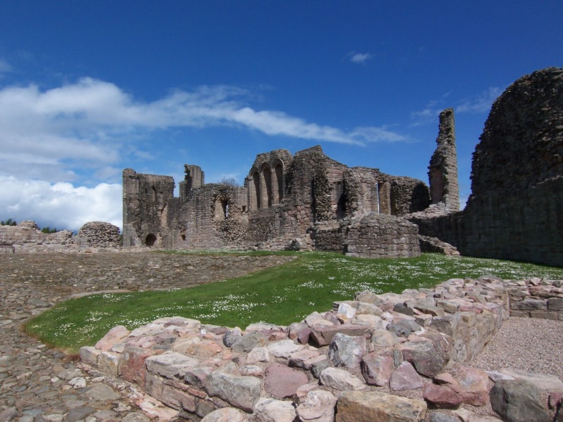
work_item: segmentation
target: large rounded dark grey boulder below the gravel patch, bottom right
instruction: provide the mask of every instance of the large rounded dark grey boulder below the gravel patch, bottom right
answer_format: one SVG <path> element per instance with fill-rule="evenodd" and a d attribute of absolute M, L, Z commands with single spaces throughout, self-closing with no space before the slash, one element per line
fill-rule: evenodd
<path fill-rule="evenodd" d="M 548 422 L 541 390 L 529 381 L 500 380 L 490 392 L 491 406 L 507 422 Z"/>

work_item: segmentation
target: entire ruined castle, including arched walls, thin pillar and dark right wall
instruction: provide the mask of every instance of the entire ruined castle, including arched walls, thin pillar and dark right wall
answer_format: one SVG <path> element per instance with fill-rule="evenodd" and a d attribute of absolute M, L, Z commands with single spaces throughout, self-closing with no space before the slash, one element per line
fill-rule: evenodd
<path fill-rule="evenodd" d="M 271 248 L 410 257 L 424 250 L 563 266 L 563 69 L 514 82 L 493 103 L 460 211 L 453 109 L 440 114 L 429 186 L 347 167 L 315 146 L 256 156 L 244 186 L 123 172 L 123 245 Z M 453 246 L 452 246 L 453 245 Z"/>

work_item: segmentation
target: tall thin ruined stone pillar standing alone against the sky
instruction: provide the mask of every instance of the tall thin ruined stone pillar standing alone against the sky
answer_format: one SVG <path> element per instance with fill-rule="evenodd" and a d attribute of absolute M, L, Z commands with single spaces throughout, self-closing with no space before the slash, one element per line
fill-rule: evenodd
<path fill-rule="evenodd" d="M 440 113 L 438 147 L 428 167 L 431 203 L 443 204 L 448 211 L 460 210 L 460 187 L 457 179 L 457 151 L 455 148 L 455 119 L 453 108 Z"/>

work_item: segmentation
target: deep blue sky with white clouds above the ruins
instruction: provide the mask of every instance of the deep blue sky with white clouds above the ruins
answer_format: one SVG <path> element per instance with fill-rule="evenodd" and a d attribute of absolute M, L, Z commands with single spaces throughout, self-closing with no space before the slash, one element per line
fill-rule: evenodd
<path fill-rule="evenodd" d="M 320 144 L 427 183 L 453 107 L 462 201 L 491 103 L 563 65 L 562 1 L 1 1 L 0 219 L 121 226 L 121 172 L 243 182 Z M 463 205 L 463 204 L 462 204 Z"/>

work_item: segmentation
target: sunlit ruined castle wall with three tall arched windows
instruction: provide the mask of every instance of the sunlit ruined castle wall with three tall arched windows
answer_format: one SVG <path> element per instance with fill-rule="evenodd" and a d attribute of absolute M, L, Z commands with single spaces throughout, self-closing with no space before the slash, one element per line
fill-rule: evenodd
<path fill-rule="evenodd" d="M 125 247 L 312 249 L 317 222 L 405 215 L 429 203 L 422 181 L 377 169 L 350 169 L 327 157 L 320 146 L 295 156 L 286 150 L 258 154 L 243 187 L 194 188 L 203 181 L 203 172 L 194 165 L 185 167 L 179 198 L 173 196 L 170 177 L 123 172 Z M 390 245 L 389 252 L 404 256 L 389 236 L 379 241 Z M 355 253 L 362 254 L 360 250 L 368 248 Z M 406 250 L 420 253 L 417 248 Z"/>

